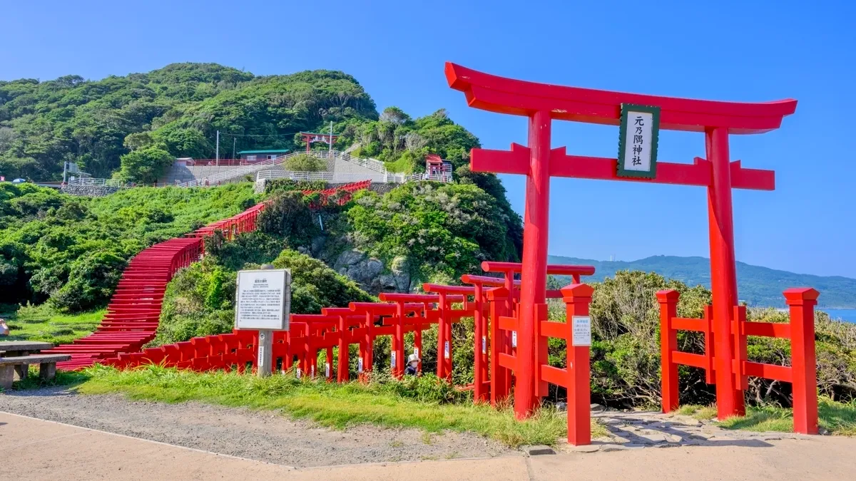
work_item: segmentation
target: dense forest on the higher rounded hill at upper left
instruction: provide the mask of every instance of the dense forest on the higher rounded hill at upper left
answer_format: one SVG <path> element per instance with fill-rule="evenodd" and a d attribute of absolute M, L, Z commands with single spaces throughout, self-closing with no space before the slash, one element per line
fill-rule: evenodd
<path fill-rule="evenodd" d="M 362 86 L 330 70 L 257 77 L 214 63 L 175 63 L 95 81 L 0 81 L 0 174 L 59 179 L 68 161 L 110 177 L 123 155 L 151 145 L 172 157 L 214 157 L 217 130 L 260 136 L 240 137 L 240 149 L 293 149 L 300 130 L 332 121 L 341 131 L 376 119 Z"/>

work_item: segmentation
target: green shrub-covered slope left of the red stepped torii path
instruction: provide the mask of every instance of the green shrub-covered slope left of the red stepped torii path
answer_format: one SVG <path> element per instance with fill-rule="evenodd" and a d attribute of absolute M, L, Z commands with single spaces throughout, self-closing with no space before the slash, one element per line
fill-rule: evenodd
<path fill-rule="evenodd" d="M 254 203 L 247 184 L 138 187 L 85 199 L 0 183 L 0 303 L 104 306 L 135 253 Z"/>

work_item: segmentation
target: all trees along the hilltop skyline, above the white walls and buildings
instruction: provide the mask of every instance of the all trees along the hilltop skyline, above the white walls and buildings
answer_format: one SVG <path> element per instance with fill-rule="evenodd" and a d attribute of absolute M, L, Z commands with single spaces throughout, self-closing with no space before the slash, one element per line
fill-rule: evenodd
<path fill-rule="evenodd" d="M 0 81 L 0 174 L 58 180 L 64 162 L 96 177 L 152 182 L 175 157 L 221 157 L 231 149 L 302 148 L 300 131 L 341 134 L 389 169 L 425 170 L 426 153 L 466 163 L 479 140 L 445 110 L 413 120 L 396 107 L 377 114 L 354 77 L 315 70 L 255 76 L 216 63 L 174 63 L 103 80 Z M 234 140 L 234 142 L 233 142 Z"/>

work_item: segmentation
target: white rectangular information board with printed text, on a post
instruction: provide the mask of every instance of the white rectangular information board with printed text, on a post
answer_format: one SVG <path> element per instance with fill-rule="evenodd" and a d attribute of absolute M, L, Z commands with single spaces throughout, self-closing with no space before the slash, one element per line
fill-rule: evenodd
<path fill-rule="evenodd" d="M 291 272 L 241 270 L 235 289 L 235 329 L 288 330 Z"/>

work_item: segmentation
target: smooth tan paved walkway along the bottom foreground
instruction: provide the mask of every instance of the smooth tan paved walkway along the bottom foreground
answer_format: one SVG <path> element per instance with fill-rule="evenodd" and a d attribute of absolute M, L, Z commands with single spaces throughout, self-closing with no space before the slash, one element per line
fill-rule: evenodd
<path fill-rule="evenodd" d="M 856 439 L 812 436 L 764 445 L 675 446 L 294 469 L 0 412 L 10 479 L 847 479 Z M 5 478 L 5 476 L 4 476 Z"/>

